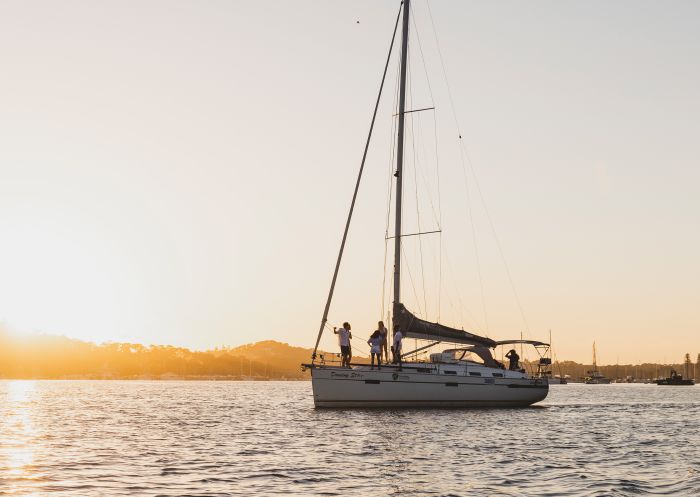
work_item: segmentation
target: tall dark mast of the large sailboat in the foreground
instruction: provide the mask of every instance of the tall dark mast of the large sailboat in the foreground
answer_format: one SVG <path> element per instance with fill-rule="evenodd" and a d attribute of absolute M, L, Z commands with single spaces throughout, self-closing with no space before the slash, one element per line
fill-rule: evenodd
<path fill-rule="evenodd" d="M 406 66 L 408 62 L 408 14 L 410 0 L 403 2 L 401 39 L 401 80 L 399 82 L 399 129 L 396 139 L 396 221 L 394 223 L 394 306 L 393 324 L 399 321 L 401 306 L 401 193 L 403 184 L 404 114 L 406 110 Z M 392 327 L 393 335 L 393 327 Z"/>

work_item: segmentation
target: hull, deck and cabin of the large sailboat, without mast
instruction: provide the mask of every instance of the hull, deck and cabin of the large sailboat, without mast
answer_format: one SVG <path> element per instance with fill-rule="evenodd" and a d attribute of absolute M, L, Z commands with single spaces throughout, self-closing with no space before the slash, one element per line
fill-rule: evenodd
<path fill-rule="evenodd" d="M 536 341 L 505 343 L 547 348 Z M 494 347 L 502 344 L 493 342 Z M 316 407 L 524 407 L 549 392 L 547 359 L 541 357 L 530 375 L 520 367 L 506 369 L 479 344 L 433 353 L 428 361 L 404 362 L 400 367 L 341 368 L 323 358 L 305 367 L 311 370 Z"/>

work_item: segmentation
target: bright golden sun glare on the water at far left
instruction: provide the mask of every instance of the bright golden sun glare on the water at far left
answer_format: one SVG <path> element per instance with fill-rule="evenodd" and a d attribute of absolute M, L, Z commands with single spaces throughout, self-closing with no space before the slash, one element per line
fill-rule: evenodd
<path fill-rule="evenodd" d="M 32 479 L 36 459 L 36 382 L 0 382 L 0 480 Z"/>

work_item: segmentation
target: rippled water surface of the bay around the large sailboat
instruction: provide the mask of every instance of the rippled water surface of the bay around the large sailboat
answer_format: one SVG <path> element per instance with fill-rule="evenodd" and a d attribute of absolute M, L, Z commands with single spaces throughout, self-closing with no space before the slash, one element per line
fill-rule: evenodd
<path fill-rule="evenodd" d="M 0 495 L 700 495 L 700 387 L 316 410 L 308 382 L 0 382 Z"/>

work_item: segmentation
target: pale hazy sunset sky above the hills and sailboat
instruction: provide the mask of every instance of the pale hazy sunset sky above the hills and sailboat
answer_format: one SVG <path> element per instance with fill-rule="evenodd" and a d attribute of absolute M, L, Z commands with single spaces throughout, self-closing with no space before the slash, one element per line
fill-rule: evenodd
<path fill-rule="evenodd" d="M 407 305 L 551 329 L 562 358 L 695 357 L 700 3 L 431 1 L 470 162 L 426 5 L 406 225 L 419 205 L 443 234 L 407 239 Z M 0 322 L 312 346 L 398 8 L 1 1 Z M 395 68 L 330 314 L 358 337 L 381 317 Z"/>

